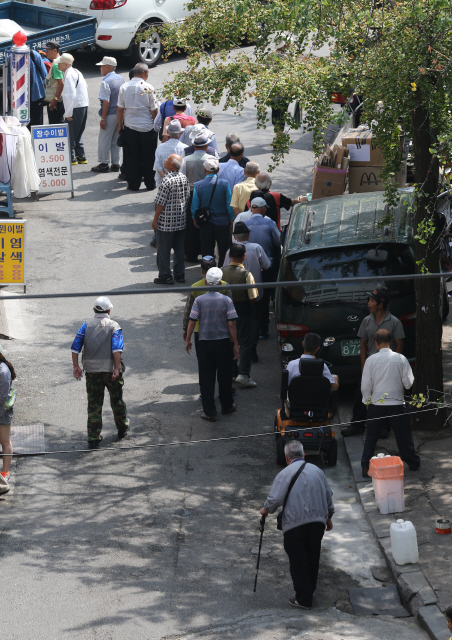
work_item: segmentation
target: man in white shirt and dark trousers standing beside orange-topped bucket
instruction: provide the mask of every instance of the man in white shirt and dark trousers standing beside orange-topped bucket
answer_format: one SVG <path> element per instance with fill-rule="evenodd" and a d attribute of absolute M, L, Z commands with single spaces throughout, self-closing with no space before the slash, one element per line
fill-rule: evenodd
<path fill-rule="evenodd" d="M 388 329 L 375 334 L 375 349 L 364 365 L 361 381 L 362 400 L 367 406 L 367 432 L 361 467 L 368 477 L 369 462 L 375 453 L 380 432 L 392 427 L 400 457 L 411 471 L 417 471 L 419 456 L 414 450 L 410 416 L 405 406 L 405 389 L 414 382 L 410 363 L 401 353 L 391 349 L 393 336 Z"/>

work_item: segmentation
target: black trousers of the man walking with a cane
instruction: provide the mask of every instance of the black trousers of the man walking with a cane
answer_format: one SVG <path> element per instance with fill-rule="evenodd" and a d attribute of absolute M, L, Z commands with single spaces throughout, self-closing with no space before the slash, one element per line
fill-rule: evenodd
<path fill-rule="evenodd" d="M 324 533 L 323 522 L 309 522 L 284 533 L 284 551 L 289 556 L 295 598 L 304 607 L 312 607 Z"/>

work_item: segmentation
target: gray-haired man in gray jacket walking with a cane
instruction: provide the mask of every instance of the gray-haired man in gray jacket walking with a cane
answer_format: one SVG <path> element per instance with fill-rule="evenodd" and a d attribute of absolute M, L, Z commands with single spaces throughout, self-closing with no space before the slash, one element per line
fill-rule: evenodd
<path fill-rule="evenodd" d="M 300 609 L 312 608 L 317 586 L 323 534 L 331 531 L 334 513 L 333 492 L 325 474 L 304 460 L 301 442 L 284 447 L 287 467 L 276 476 L 261 515 L 274 513 L 283 506 L 292 478 L 303 467 L 289 493 L 282 518 L 284 551 L 289 556 L 295 596 L 289 604 Z"/>

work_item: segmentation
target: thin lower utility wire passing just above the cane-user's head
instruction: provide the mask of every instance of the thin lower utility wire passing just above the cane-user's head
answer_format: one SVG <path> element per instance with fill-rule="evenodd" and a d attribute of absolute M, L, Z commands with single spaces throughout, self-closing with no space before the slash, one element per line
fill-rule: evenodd
<path fill-rule="evenodd" d="M 379 403 L 380 404 L 380 403 Z M 382 403 L 384 404 L 384 403 Z M 407 411 L 404 415 L 418 415 L 419 413 L 425 413 L 426 411 L 439 411 L 440 409 L 451 409 L 452 405 L 442 405 L 441 407 L 431 407 L 429 409 L 420 409 L 419 411 Z M 385 416 L 385 418 L 396 418 L 400 414 L 396 413 L 392 416 Z M 381 420 L 381 418 L 367 418 L 366 422 L 371 422 L 372 420 Z M 344 427 L 351 424 L 356 424 L 357 422 L 363 422 L 362 420 L 355 420 L 350 422 L 337 422 L 335 424 L 324 424 L 324 425 L 312 425 L 311 427 L 306 428 L 296 428 L 297 431 L 312 431 L 317 427 L 329 427 L 333 429 L 334 427 Z M 101 449 L 60 449 L 58 451 L 38 451 L 36 453 L 2 453 L 3 456 L 9 457 L 35 457 L 35 456 L 54 456 L 59 455 L 60 453 L 93 453 L 95 451 L 132 451 L 135 449 L 157 449 L 162 447 L 176 447 L 179 445 L 193 445 L 193 444 L 203 444 L 206 442 L 225 442 L 228 440 L 246 440 L 248 438 L 261 438 L 263 436 L 275 436 L 278 435 L 277 431 L 267 431 L 265 433 L 251 433 L 243 436 L 228 436 L 224 438 L 206 438 L 203 440 L 176 440 L 174 442 L 160 442 L 154 444 L 137 444 L 130 445 L 128 447 L 102 447 Z"/>

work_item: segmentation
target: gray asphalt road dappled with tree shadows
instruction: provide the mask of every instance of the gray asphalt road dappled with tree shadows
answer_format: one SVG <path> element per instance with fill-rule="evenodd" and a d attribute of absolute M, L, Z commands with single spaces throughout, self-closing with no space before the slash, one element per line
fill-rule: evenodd
<path fill-rule="evenodd" d="M 75 167 L 75 193 L 16 204 L 28 220 L 29 293 L 153 287 L 149 247 L 155 192 L 130 193 L 116 174 L 95 175 L 99 55 L 81 54 L 90 107 L 88 167 Z M 151 71 L 159 87 L 182 58 Z M 120 71 L 128 67 L 121 61 Z M 96 105 L 97 106 L 97 105 Z M 221 141 L 237 131 L 246 154 L 265 168 L 271 132 L 244 116 L 214 110 Z M 311 137 L 297 134 L 274 173 L 287 195 L 310 191 Z M 199 267 L 188 266 L 188 284 Z M 126 349 L 125 400 L 132 433 L 121 445 L 106 403 L 103 449 L 85 447 L 84 383 L 72 378 L 70 344 L 93 300 L 5 303 L 12 340 L 4 352 L 19 380 L 14 423 L 45 424 L 46 447 L 67 450 L 13 464 L 14 487 L 0 497 L 2 635 L 11 640 L 169 638 L 397 638 L 421 640 L 409 620 L 351 615 L 348 587 L 381 586 L 384 565 L 357 502 L 339 441 L 334 530 L 326 534 L 315 609 L 290 610 L 288 563 L 275 518 L 267 521 L 257 593 L 253 593 L 258 509 L 279 471 L 273 419 L 278 408 L 276 333 L 259 347 L 258 387 L 239 390 L 238 411 L 215 424 L 200 419 L 197 367 L 184 351 L 185 296 L 113 297 Z M 141 445 L 265 434 L 243 440 Z M 112 450 L 105 450 L 105 448 Z M 120 450 L 120 449 L 125 450 Z M 316 460 L 313 459 L 314 462 Z M 318 460 L 317 460 L 318 463 Z M 384 587 L 381 587 L 384 588 Z"/>

